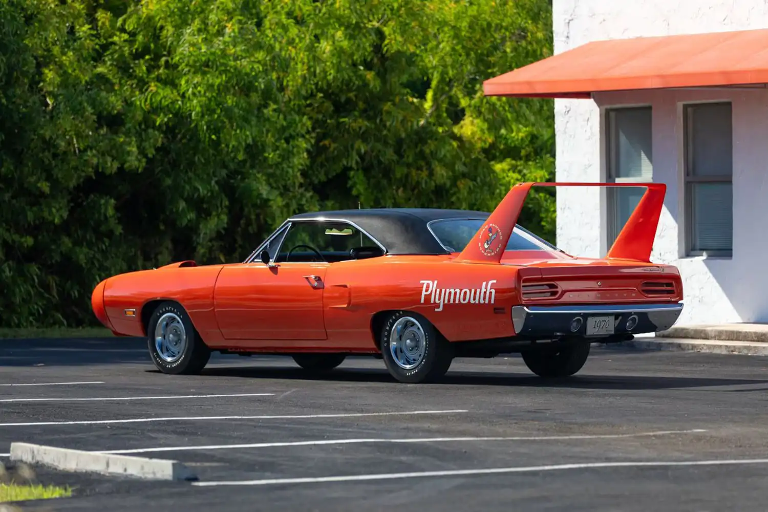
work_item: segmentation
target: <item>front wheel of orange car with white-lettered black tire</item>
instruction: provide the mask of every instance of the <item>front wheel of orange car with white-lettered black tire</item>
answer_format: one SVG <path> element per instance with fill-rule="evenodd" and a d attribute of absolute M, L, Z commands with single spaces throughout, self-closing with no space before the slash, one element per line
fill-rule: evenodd
<path fill-rule="evenodd" d="M 197 375 L 210 359 L 210 348 L 177 302 L 163 302 L 147 322 L 147 348 L 163 373 Z"/>

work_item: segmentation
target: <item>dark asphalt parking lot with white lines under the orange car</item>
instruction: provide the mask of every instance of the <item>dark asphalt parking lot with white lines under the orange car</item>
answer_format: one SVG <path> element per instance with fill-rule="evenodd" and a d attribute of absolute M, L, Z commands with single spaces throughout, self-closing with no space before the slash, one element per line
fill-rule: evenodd
<path fill-rule="evenodd" d="M 154 370 L 143 340 L 0 340 L 12 441 L 171 458 L 199 481 L 45 473 L 22 510 L 765 510 L 768 359 L 593 347 L 574 378 L 459 359 L 402 385 L 380 360 Z M 58 479 L 58 480 L 57 480 Z"/>

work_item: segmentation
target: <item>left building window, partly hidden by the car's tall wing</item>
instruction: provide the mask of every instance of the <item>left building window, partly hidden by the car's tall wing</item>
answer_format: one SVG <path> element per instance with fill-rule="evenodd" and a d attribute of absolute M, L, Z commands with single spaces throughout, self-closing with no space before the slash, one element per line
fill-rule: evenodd
<path fill-rule="evenodd" d="M 606 113 L 608 180 L 615 183 L 649 183 L 654 177 L 650 107 L 614 108 Z M 607 239 L 610 247 L 634 211 L 643 187 L 607 190 Z"/>

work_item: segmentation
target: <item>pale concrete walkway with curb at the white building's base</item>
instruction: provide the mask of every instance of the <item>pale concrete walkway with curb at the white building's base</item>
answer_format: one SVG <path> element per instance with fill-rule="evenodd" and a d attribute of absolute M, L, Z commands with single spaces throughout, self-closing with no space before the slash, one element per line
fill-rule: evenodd
<path fill-rule="evenodd" d="M 768 324 L 680 325 L 619 345 L 646 350 L 768 355 Z"/>

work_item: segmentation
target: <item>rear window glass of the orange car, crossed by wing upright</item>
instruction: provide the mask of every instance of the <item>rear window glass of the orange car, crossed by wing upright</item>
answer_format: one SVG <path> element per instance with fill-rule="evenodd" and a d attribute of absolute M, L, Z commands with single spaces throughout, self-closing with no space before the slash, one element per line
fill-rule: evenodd
<path fill-rule="evenodd" d="M 485 219 L 443 219 L 429 223 L 429 229 L 445 249 L 452 253 L 461 253 L 484 223 Z M 559 249 L 521 226 L 515 226 L 505 250 L 557 251 Z"/>

